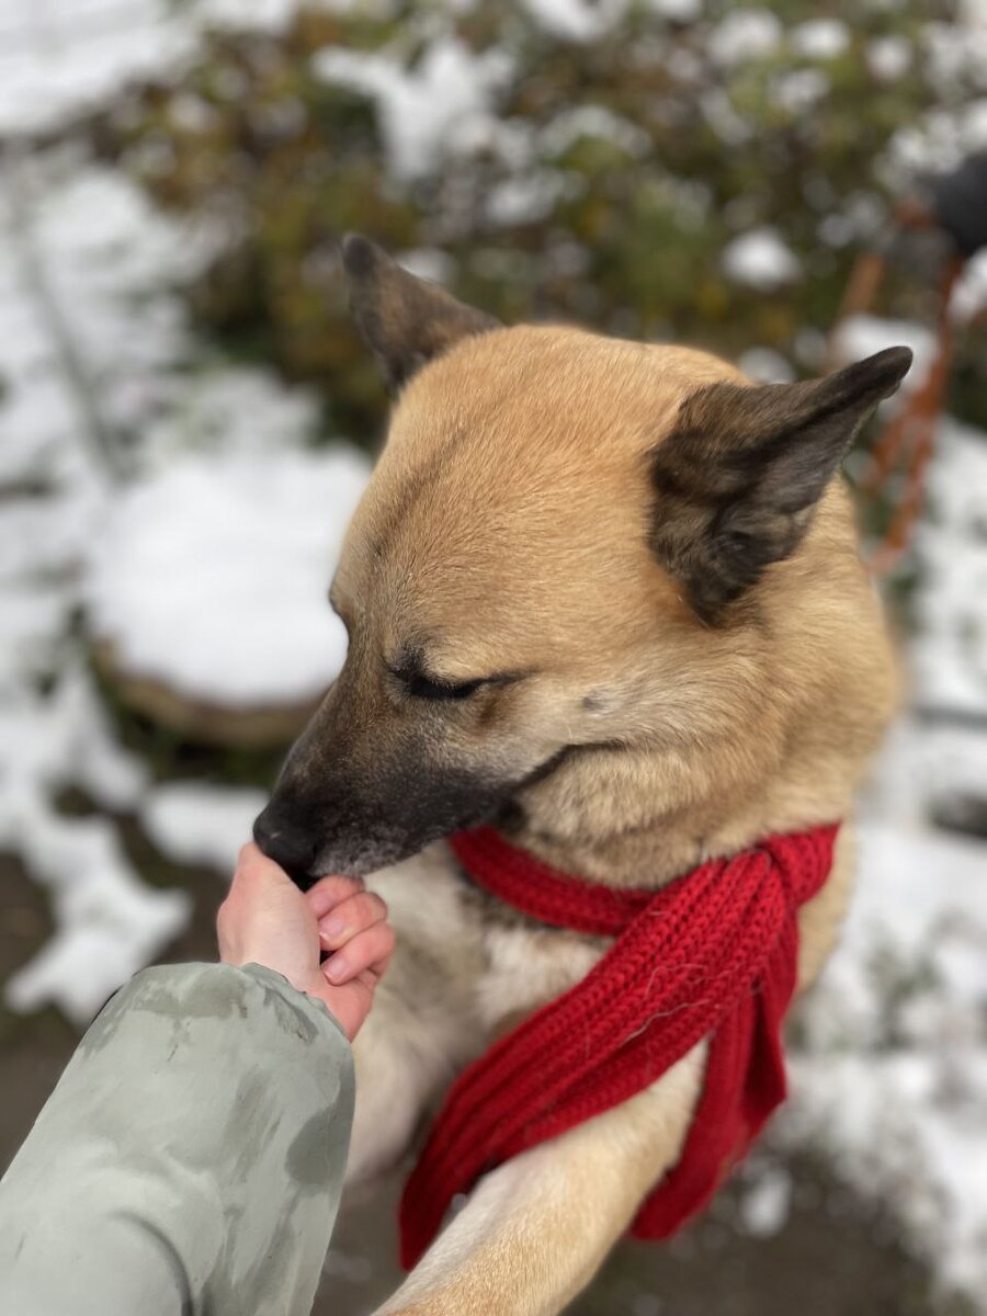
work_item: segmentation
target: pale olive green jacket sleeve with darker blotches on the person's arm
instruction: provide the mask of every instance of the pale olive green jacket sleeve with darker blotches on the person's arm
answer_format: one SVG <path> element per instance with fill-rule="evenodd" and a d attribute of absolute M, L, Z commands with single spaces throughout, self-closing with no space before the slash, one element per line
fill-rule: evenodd
<path fill-rule="evenodd" d="M 353 1096 L 342 1030 L 271 970 L 138 974 L 0 1182 L 0 1312 L 308 1316 Z"/>

